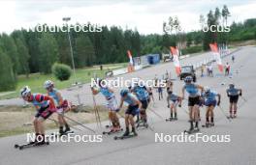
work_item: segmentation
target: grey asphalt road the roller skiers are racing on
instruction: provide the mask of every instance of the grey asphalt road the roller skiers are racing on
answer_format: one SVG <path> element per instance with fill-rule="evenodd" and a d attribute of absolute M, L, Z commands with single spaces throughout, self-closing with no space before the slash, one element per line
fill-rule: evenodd
<path fill-rule="evenodd" d="M 229 135 L 230 142 L 155 142 L 155 133 L 164 135 L 178 135 L 188 128 L 188 117 L 184 109 L 178 109 L 178 121 L 166 123 L 164 119 L 155 116 L 148 110 L 150 126 L 154 129 L 138 130 L 139 136 L 126 140 L 114 141 L 114 135 L 103 136 L 100 143 L 51 143 L 47 147 L 38 147 L 18 151 L 14 149 L 16 143 L 23 143 L 25 135 L 6 137 L 0 139 L 0 164 L 256 164 L 256 133 L 255 133 L 255 62 L 256 47 L 243 47 L 234 53 L 236 62 L 232 64 L 233 76 L 203 77 L 198 79 L 198 84 L 209 86 L 222 95 L 221 106 L 228 113 L 228 98 L 225 94 L 228 83 L 234 82 L 243 90 L 244 103 L 239 101 L 240 109 L 238 118 L 229 122 L 219 108 L 215 109 L 215 126 L 201 128 L 203 135 Z M 195 58 L 199 58 L 195 57 Z M 191 62 L 195 59 L 191 58 Z M 223 59 L 230 62 L 231 57 Z M 169 69 L 168 64 L 138 71 L 136 75 L 142 78 L 155 73 L 164 73 Z M 217 72 L 217 70 L 215 70 Z M 126 78 L 131 74 L 124 75 Z M 183 82 L 175 81 L 175 91 L 180 94 Z M 225 85 L 221 85 L 225 84 Z M 155 95 L 156 96 L 156 95 Z M 183 108 L 186 108 L 183 101 Z M 169 116 L 166 101 L 156 100 L 150 105 L 163 118 Z M 205 108 L 201 109 L 202 124 L 205 123 Z M 121 120 L 123 122 L 123 120 Z M 105 122 L 104 124 L 108 124 Z M 104 125 L 103 124 L 103 125 Z M 88 124 L 96 128 L 96 124 Z M 96 134 L 101 134 L 104 128 L 97 128 Z M 91 134 L 89 131 L 78 131 L 79 135 Z M 121 134 L 121 133 L 120 133 Z"/>

